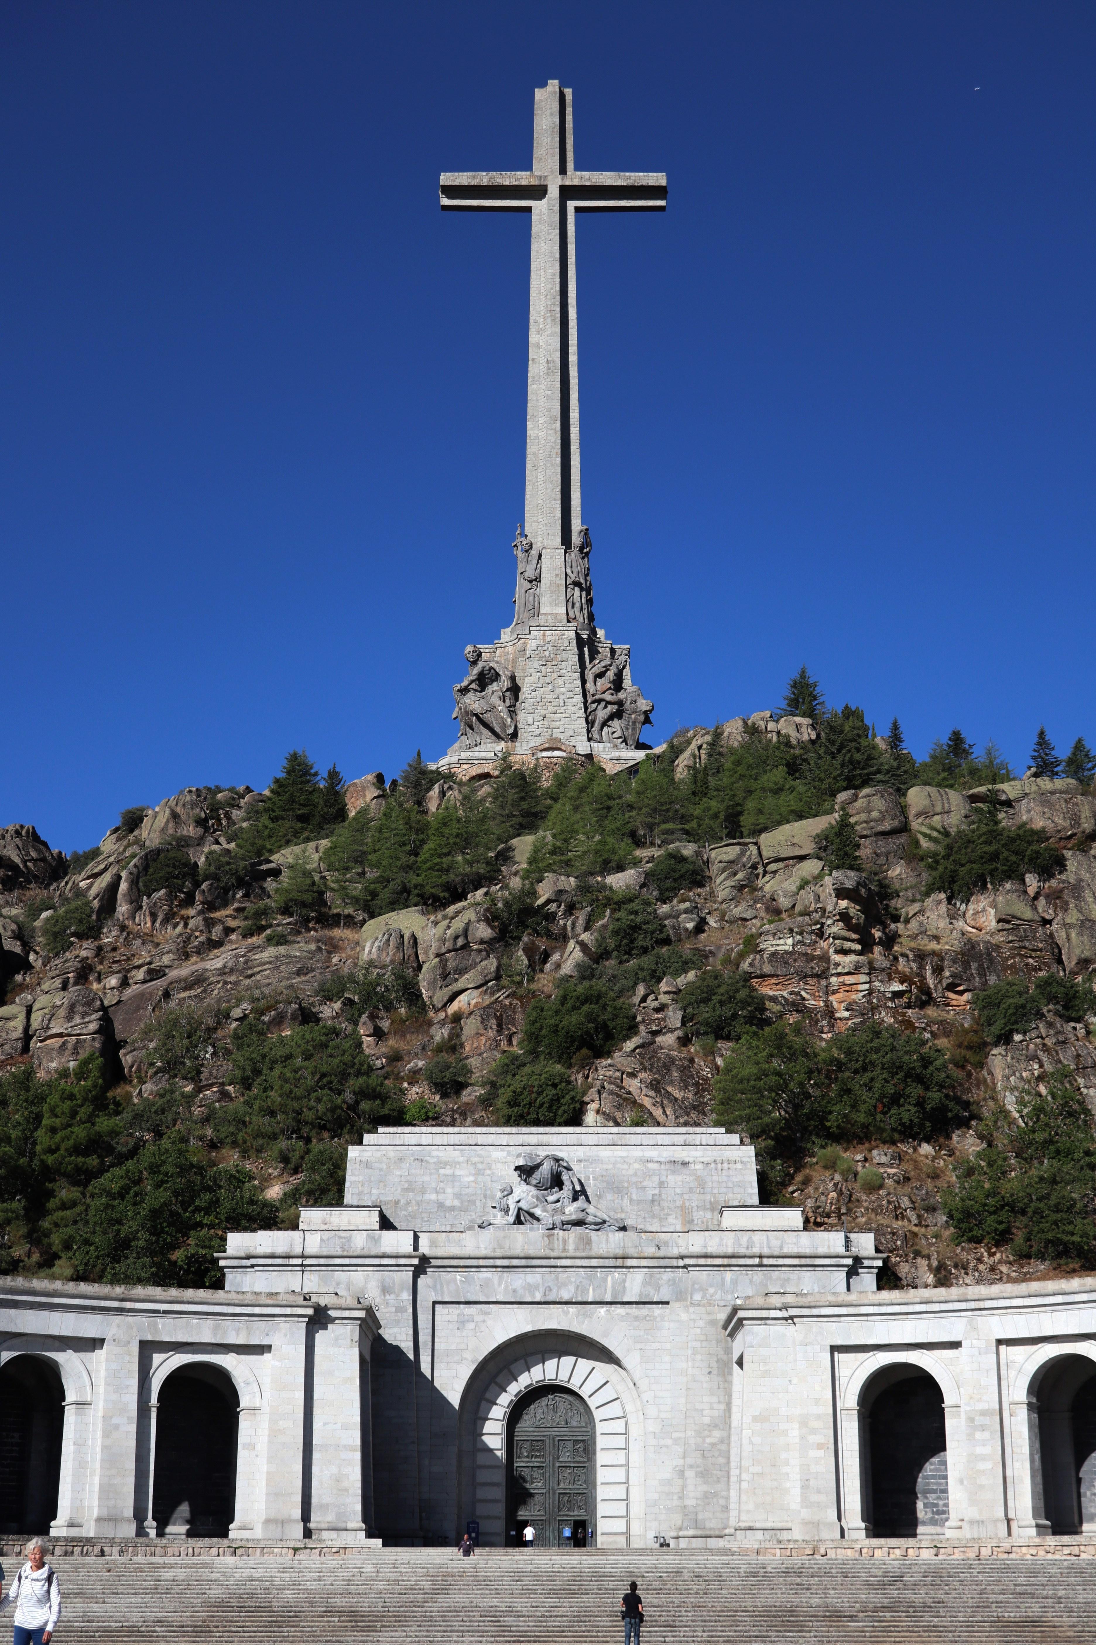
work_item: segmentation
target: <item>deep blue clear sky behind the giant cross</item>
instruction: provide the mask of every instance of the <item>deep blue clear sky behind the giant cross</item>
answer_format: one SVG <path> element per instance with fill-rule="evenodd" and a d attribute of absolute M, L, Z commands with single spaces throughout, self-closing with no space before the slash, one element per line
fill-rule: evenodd
<path fill-rule="evenodd" d="M 0 824 L 455 734 L 509 620 L 529 222 L 580 168 L 598 620 L 654 734 L 779 701 L 1096 745 L 1096 7 L 0 7 Z"/>

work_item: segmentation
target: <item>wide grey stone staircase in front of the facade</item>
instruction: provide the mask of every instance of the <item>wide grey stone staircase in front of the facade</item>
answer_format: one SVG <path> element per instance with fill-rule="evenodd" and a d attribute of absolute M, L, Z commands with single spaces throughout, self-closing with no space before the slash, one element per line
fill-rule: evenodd
<path fill-rule="evenodd" d="M 636 1578 L 644 1645 L 1096 1645 L 1091 1546 L 1058 1543 L 1052 1555 L 1043 1543 L 1037 1556 L 943 1546 L 937 1558 L 919 1545 L 868 1548 L 462 1559 L 455 1548 L 59 1546 L 58 1642 L 619 1645 L 619 1596 Z M 3 1561 L 10 1578 L 18 1561 L 7 1541 Z"/>

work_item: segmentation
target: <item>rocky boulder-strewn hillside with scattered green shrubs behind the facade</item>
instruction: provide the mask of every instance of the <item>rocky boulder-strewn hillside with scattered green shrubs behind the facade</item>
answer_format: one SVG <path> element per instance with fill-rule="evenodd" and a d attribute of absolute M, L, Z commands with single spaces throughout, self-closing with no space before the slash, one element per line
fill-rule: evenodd
<path fill-rule="evenodd" d="M 997 1158 L 1027 1181 L 1025 1104 L 1068 1091 L 1096 1110 L 1096 799 L 1052 775 L 902 781 L 923 768 L 863 716 L 853 735 L 848 712 L 836 729 L 731 719 L 616 776 L 503 762 L 458 785 L 416 758 L 398 783 L 343 785 L 291 755 L 266 793 L 184 788 L 72 859 L 30 824 L 0 829 L 3 1124 L 16 1087 L 48 1110 L 84 1058 L 102 1061 L 113 1140 L 99 1178 L 62 1183 L 77 1226 L 97 1181 L 179 1125 L 291 1222 L 340 1198 L 340 1150 L 363 1124 L 716 1119 L 754 1135 L 769 1193 L 807 1226 L 874 1229 L 892 1283 L 1091 1265 L 1076 1227 L 1030 1234 L 1019 1189 L 996 1234 L 971 1222 L 971 1183 Z M 850 735 L 882 780 L 749 837 L 703 837 L 716 791 L 739 795 L 739 818 L 764 783 L 797 785 L 800 809 L 825 795 L 818 762 L 828 748 L 840 773 Z M 894 1056 L 907 1063 L 889 1076 Z M 861 1094 L 882 1081 L 879 1102 L 846 1097 L 840 1117 L 843 1077 Z M 789 1117 L 797 1081 L 808 1099 Z M 899 1086 L 917 1087 L 905 1117 L 889 1109 Z M 830 1104 L 825 1125 L 812 1102 Z M 1091 1137 L 1061 1171 L 1086 1148 L 1070 1214 L 1091 1229 Z M 7 1267 L 117 1277 L 87 1257 L 94 1240 L 58 1234 L 58 1193 L 41 1189 L 35 1221 L 23 1178 L 8 1184 Z"/>

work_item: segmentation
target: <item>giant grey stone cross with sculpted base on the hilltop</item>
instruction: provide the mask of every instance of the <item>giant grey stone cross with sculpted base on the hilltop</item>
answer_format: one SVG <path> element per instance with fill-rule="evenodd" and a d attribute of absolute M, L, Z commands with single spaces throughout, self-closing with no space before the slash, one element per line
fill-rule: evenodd
<path fill-rule="evenodd" d="M 582 523 L 575 212 L 664 211 L 661 173 L 575 171 L 570 90 L 534 94 L 532 171 L 444 173 L 444 211 L 532 217 L 526 518 L 514 541 L 514 622 L 468 646 L 454 688 L 460 739 L 442 767 L 501 753 L 636 760 L 652 704 L 631 683 L 629 648 L 593 620 L 590 533 Z"/>

